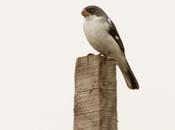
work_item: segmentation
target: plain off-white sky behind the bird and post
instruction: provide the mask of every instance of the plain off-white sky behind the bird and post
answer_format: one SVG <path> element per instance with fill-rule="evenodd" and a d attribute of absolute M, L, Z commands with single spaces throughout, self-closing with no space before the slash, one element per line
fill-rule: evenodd
<path fill-rule="evenodd" d="M 73 130 L 75 61 L 97 54 L 82 29 L 89 4 L 117 26 L 140 84 L 118 71 L 119 129 L 175 129 L 174 0 L 1 0 L 0 130 Z"/>

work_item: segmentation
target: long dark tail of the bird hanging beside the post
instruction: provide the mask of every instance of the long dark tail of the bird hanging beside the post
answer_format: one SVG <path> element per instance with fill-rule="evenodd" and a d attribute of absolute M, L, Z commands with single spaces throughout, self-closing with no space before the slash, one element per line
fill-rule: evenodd
<path fill-rule="evenodd" d="M 127 60 L 125 62 L 125 67 L 119 65 L 119 68 L 124 76 L 124 79 L 126 81 L 126 84 L 128 88 L 130 89 L 139 89 L 139 84 L 137 82 L 136 77 L 134 76 L 134 73 L 131 70 L 131 67 L 129 66 Z"/>

